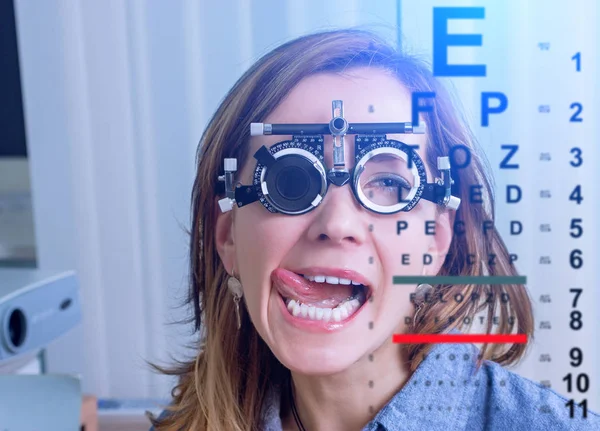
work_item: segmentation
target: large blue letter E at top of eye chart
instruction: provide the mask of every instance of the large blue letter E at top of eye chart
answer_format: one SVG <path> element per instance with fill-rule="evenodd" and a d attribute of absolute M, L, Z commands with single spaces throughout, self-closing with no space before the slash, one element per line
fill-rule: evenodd
<path fill-rule="evenodd" d="M 448 34 L 448 20 L 483 19 L 482 7 L 433 8 L 433 76 L 485 76 L 485 64 L 449 65 L 449 46 L 481 46 L 480 34 Z"/>

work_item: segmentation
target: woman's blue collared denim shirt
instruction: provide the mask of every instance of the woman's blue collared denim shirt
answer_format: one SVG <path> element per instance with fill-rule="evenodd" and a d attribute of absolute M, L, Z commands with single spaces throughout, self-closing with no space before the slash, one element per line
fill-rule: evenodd
<path fill-rule="evenodd" d="M 478 354 L 473 344 L 436 344 L 362 431 L 600 430 L 597 413 L 583 419 L 576 406 L 570 418 L 567 398 L 495 362 L 474 373 Z M 280 394 L 277 386 L 267 395 L 264 431 L 282 430 Z"/>

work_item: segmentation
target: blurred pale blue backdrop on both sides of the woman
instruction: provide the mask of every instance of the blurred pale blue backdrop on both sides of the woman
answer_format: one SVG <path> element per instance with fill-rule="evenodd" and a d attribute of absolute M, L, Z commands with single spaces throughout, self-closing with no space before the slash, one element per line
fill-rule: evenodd
<path fill-rule="evenodd" d="M 101 399 L 167 398 L 173 381 L 145 360 L 192 354 L 190 327 L 170 322 L 187 316 L 178 305 L 194 157 L 219 102 L 262 54 L 317 30 L 361 26 L 431 61 L 440 6 L 485 8 L 483 19 L 449 21 L 449 33 L 480 34 L 482 46 L 451 47 L 448 62 L 485 64 L 486 76 L 443 80 L 486 148 L 496 225 L 536 302 L 534 349 L 516 371 L 599 410 L 593 0 L 0 2 L 0 262 L 75 270 L 81 289 L 82 322 L 45 350 L 47 372 L 80 375 Z M 508 98 L 485 127 L 482 92 Z M 519 145 L 518 169 L 499 168 L 502 145 Z M 583 154 L 577 168 L 573 147 Z M 521 202 L 506 202 L 508 184 L 521 187 Z M 569 199 L 577 185 L 579 204 Z M 569 234 L 575 217 L 578 238 Z M 575 286 L 578 331 L 569 326 Z M 576 371 L 573 346 L 585 354 Z M 567 391 L 570 372 L 588 375 L 585 393 Z"/>

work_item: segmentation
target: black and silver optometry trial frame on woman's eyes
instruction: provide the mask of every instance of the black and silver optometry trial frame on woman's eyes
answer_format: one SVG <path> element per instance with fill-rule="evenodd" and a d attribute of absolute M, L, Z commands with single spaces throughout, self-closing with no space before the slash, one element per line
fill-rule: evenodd
<path fill-rule="evenodd" d="M 425 165 L 416 146 L 388 139 L 388 133 L 423 134 L 423 123 L 348 123 L 343 101 L 332 102 L 332 119 L 328 124 L 251 123 L 251 136 L 291 135 L 289 140 L 254 154 L 257 164 L 251 185 L 236 183 L 237 159 L 225 158 L 226 197 L 219 200 L 222 212 L 259 201 L 272 213 L 300 215 L 315 209 L 325 198 L 330 184 L 338 187 L 350 183 L 357 201 L 378 214 L 410 211 L 420 199 L 457 210 L 460 198 L 452 196 L 454 181 L 450 158 L 438 157 L 441 177 L 428 183 Z M 323 135 L 333 136 L 333 167 L 326 170 Z M 352 169 L 346 166 L 346 135 L 355 135 Z"/>

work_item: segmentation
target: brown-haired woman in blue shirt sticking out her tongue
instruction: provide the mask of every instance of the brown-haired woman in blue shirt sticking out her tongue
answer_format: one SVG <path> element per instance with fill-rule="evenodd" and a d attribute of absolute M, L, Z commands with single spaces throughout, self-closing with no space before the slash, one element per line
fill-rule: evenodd
<path fill-rule="evenodd" d="M 250 136 L 251 123 L 329 123 L 338 100 L 349 123 L 410 122 L 415 92 L 435 93 L 433 109 L 420 116 L 426 133 L 385 139 L 416 148 L 428 184 L 440 174 L 438 158 L 468 148 L 452 157 L 458 210 L 422 198 L 410 211 L 372 211 L 365 205 L 375 199 L 367 196 L 372 183 L 362 179 L 362 200 L 350 183 L 329 184 L 320 202 L 296 215 L 271 211 L 265 199 L 243 206 L 239 194 L 238 205 L 227 199 L 226 158 L 238 161 L 235 183 L 251 185 L 252 156 L 292 138 Z M 348 169 L 354 138 L 341 141 Z M 333 146 L 325 134 L 327 171 Z M 392 342 L 395 333 L 458 332 L 476 315 L 486 320 L 477 332 L 531 339 L 523 285 L 392 282 L 396 275 L 517 275 L 497 230 L 482 228 L 494 214 L 489 175 L 483 152 L 428 68 L 376 35 L 321 32 L 261 58 L 227 94 L 200 142 L 189 302 L 203 338 L 194 360 L 161 369 L 179 384 L 155 429 L 594 429 L 597 415 L 581 419 L 578 407 L 569 418 L 565 398 L 501 367 L 516 363 L 525 344 L 477 350 Z M 473 185 L 483 203 L 470 197 Z M 472 300 L 456 300 L 461 295 Z M 349 305 L 340 311 L 343 302 Z"/>

